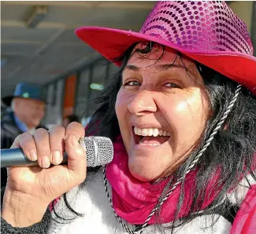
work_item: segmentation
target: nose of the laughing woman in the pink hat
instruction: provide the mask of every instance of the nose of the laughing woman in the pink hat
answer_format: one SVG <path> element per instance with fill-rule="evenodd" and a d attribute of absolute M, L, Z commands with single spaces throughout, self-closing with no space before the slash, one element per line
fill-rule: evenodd
<path fill-rule="evenodd" d="M 144 115 L 148 112 L 156 112 L 157 109 L 151 93 L 145 90 L 135 94 L 135 97 L 128 104 L 128 110 L 133 115 Z"/>

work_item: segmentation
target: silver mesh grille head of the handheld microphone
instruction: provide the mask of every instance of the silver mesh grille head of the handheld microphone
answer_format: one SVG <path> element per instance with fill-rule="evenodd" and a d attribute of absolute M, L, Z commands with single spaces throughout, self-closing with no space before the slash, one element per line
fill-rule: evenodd
<path fill-rule="evenodd" d="M 80 142 L 86 149 L 87 166 L 102 166 L 113 159 L 113 143 L 108 137 L 84 137 Z"/>

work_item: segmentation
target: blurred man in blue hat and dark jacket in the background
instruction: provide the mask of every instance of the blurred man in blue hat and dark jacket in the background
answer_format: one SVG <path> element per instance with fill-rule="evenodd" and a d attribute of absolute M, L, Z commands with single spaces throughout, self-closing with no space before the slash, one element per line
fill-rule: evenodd
<path fill-rule="evenodd" d="M 34 133 L 43 119 L 45 101 L 43 87 L 32 83 L 19 83 L 13 96 L 3 97 L 9 111 L 1 119 L 1 148 L 10 148 L 14 139 L 24 132 Z M 45 128 L 45 127 L 43 127 Z M 6 168 L 1 170 L 1 186 L 6 185 Z"/>

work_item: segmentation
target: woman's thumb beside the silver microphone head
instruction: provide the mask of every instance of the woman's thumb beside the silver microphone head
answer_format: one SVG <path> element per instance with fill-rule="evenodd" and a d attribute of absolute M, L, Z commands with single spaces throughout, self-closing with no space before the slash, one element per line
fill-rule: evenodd
<path fill-rule="evenodd" d="M 83 182 L 87 171 L 87 155 L 75 134 L 71 134 L 65 139 L 65 151 L 68 154 L 69 172 L 80 177 Z"/>

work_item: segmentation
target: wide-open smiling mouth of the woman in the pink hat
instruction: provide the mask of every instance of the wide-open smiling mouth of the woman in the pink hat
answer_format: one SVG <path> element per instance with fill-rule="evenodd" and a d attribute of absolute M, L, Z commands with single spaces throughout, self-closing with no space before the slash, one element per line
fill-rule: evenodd
<path fill-rule="evenodd" d="M 165 130 L 159 129 L 139 129 L 135 126 L 132 127 L 133 138 L 135 144 L 145 146 L 159 146 L 169 141 L 170 134 Z"/>

